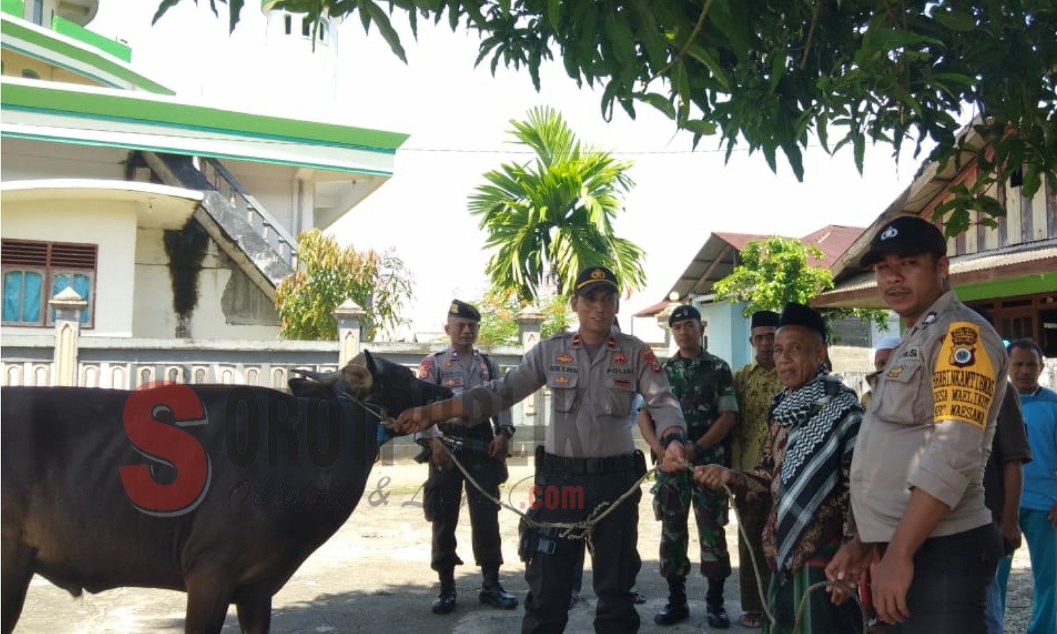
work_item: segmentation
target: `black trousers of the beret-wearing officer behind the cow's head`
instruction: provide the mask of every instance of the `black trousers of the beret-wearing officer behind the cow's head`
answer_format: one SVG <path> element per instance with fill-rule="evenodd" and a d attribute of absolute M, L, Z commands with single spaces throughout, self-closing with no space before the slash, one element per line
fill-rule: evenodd
<path fill-rule="evenodd" d="M 456 458 L 492 497 L 499 497 L 499 485 L 506 481 L 506 465 L 501 460 L 468 451 L 461 451 Z M 456 527 L 462 510 L 464 486 L 469 506 L 475 561 L 482 568 L 498 568 L 503 563 L 499 540 L 499 506 L 481 495 L 468 481 L 464 481 L 465 477 L 455 465 L 443 471 L 432 463 L 429 465 L 423 505 L 426 519 L 433 523 L 430 567 L 438 572 L 451 571 L 462 563 L 456 554 Z"/>

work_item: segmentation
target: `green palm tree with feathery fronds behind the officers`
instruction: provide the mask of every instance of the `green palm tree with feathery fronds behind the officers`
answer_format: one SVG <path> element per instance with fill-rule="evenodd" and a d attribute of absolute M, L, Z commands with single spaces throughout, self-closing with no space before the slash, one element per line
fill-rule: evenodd
<path fill-rule="evenodd" d="M 534 108 L 527 122 L 511 124 L 509 134 L 535 160 L 489 171 L 487 184 L 469 197 L 470 213 L 481 217 L 486 246 L 495 250 L 486 269 L 493 285 L 533 301 L 542 284 L 567 295 L 581 268 L 602 265 L 624 291 L 642 288 L 643 249 L 617 238 L 612 224 L 620 197 L 634 186 L 631 163 L 581 146 L 552 108 Z"/>

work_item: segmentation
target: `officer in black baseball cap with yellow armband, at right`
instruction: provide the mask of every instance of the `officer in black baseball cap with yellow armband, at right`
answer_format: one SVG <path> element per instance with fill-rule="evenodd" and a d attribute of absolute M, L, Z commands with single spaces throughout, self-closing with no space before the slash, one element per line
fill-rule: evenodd
<path fill-rule="evenodd" d="M 874 549 L 872 597 L 886 634 L 986 634 L 987 586 L 1002 556 L 983 476 L 1006 389 L 1001 339 L 950 291 L 946 241 L 896 218 L 863 265 L 906 332 L 880 371 L 851 469 L 857 536 L 827 567 L 855 583 Z"/>

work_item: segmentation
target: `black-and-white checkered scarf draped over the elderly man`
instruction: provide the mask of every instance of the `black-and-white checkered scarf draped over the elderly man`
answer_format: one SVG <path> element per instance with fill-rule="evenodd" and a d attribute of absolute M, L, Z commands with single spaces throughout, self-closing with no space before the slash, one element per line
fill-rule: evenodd
<path fill-rule="evenodd" d="M 855 392 L 824 367 L 799 389 L 775 397 L 771 418 L 790 427 L 778 487 L 775 525 L 778 570 L 789 570 L 793 552 L 819 506 L 840 481 L 863 421 Z"/>

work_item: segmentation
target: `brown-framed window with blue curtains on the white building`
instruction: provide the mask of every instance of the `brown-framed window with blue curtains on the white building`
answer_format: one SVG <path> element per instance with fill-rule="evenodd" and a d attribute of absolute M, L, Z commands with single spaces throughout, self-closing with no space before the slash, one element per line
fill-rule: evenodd
<path fill-rule="evenodd" d="M 54 324 L 55 311 L 48 305 L 48 300 L 72 286 L 88 302 L 81 311 L 80 323 L 84 328 L 92 328 L 97 255 L 95 244 L 4 239 L 0 244 L 3 323 Z"/>

